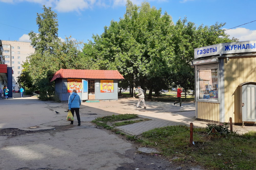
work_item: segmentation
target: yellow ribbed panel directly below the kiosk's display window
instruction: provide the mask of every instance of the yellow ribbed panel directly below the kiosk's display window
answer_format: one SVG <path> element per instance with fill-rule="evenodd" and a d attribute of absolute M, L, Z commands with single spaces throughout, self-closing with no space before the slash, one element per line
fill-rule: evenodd
<path fill-rule="evenodd" d="M 220 121 L 219 103 L 197 102 L 199 119 Z"/>

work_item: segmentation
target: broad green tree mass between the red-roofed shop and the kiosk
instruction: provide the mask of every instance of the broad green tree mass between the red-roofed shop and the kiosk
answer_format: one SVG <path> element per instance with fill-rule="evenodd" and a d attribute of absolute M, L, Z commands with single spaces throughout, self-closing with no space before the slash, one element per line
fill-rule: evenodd
<path fill-rule="evenodd" d="M 84 44 L 81 56 L 98 69 L 118 70 L 125 78 L 120 87 L 140 85 L 159 95 L 173 84 L 194 89 L 194 48 L 233 42 L 222 27 L 225 23 L 197 26 L 185 17 L 176 24 L 162 9 L 127 0 L 126 12 L 119 21 L 112 20 L 101 35 Z"/>

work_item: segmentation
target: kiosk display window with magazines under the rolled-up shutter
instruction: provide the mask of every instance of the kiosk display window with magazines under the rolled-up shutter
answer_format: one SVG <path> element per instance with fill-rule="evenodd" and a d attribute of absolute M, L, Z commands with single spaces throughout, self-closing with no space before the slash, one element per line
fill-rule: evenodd
<path fill-rule="evenodd" d="M 218 100 L 218 69 L 199 70 L 199 99 Z"/>

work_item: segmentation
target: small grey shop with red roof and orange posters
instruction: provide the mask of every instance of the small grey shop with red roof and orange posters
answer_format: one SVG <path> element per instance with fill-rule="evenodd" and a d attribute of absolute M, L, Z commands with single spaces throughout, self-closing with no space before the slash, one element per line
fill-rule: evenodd
<path fill-rule="evenodd" d="M 118 80 L 124 77 L 117 70 L 60 69 L 52 77 L 55 93 L 67 101 L 72 90 L 81 100 L 118 100 Z"/>

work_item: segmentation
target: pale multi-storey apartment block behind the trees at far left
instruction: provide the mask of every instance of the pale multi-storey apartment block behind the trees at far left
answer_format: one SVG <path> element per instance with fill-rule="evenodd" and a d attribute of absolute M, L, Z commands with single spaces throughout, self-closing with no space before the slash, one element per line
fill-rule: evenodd
<path fill-rule="evenodd" d="M 26 61 L 29 55 L 35 52 L 35 48 L 30 45 L 30 42 L 21 41 L 2 40 L 2 45 L 5 64 L 7 64 L 7 67 L 12 67 L 13 70 L 12 89 L 19 90 L 16 83 L 17 77 L 21 74 L 23 69 L 21 64 Z"/>

